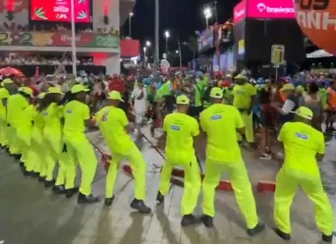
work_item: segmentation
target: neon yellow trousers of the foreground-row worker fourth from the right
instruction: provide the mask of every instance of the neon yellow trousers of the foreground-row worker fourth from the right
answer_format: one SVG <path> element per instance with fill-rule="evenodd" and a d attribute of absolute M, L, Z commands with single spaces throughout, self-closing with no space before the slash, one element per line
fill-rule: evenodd
<path fill-rule="evenodd" d="M 143 155 L 136 148 L 134 144 L 133 148 L 125 155 L 120 155 L 113 153 L 112 150 L 112 160 L 109 165 L 109 171 L 107 172 L 106 178 L 106 192 L 107 198 L 113 196 L 114 184 L 116 182 L 116 174 L 119 171 L 121 165 L 121 160 L 129 160 L 131 164 L 132 173 L 134 176 L 134 196 L 138 200 L 144 200 L 146 198 L 146 170 L 147 164 L 143 159 Z"/>

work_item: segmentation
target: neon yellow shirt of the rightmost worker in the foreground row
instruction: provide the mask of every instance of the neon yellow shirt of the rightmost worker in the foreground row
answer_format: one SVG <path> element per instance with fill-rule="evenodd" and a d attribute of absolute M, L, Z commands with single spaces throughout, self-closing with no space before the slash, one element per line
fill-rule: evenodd
<path fill-rule="evenodd" d="M 308 174 L 320 174 L 316 153 L 325 153 L 323 133 L 302 122 L 285 123 L 278 135 L 285 148 L 283 167 Z"/>

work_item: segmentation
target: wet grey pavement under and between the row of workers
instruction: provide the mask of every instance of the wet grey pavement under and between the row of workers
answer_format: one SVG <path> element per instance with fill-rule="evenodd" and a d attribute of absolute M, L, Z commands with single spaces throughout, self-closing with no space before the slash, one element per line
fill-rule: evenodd
<path fill-rule="evenodd" d="M 143 129 L 148 135 L 148 130 Z M 100 148 L 102 139 L 97 133 L 88 137 Z M 245 223 L 232 192 L 217 192 L 215 228 L 199 226 L 181 228 L 180 199 L 183 188 L 173 186 L 164 205 L 156 207 L 155 199 L 163 159 L 143 141 L 142 151 L 148 162 L 147 203 L 153 214 L 141 216 L 129 204 L 134 198 L 134 181 L 124 173 L 116 182 L 116 199 L 112 207 L 103 201 L 92 206 L 78 206 L 77 198 L 55 196 L 36 179 L 25 178 L 18 162 L 0 153 L 0 243 L 4 244 L 280 244 L 286 243 L 273 233 L 273 193 L 255 192 L 259 216 L 267 225 L 266 231 L 249 238 Z M 202 144 L 202 143 L 200 143 Z M 327 143 L 327 155 L 321 166 L 325 188 L 336 205 L 336 141 Z M 202 145 L 200 145 L 202 148 Z M 108 151 L 108 150 L 107 150 Z M 273 180 L 278 170 L 274 160 L 259 160 L 255 152 L 243 150 L 244 160 L 255 188 L 259 179 Z M 201 159 L 204 152 L 200 152 Z M 104 195 L 105 172 L 99 165 L 94 181 L 94 194 Z M 227 179 L 227 175 L 223 175 Z M 202 194 L 200 195 L 200 199 Z M 291 219 L 292 240 L 289 243 L 322 243 L 315 227 L 313 206 L 299 191 L 293 202 Z M 201 214 L 200 204 L 197 213 Z M 336 243 L 336 241 L 334 242 Z"/>

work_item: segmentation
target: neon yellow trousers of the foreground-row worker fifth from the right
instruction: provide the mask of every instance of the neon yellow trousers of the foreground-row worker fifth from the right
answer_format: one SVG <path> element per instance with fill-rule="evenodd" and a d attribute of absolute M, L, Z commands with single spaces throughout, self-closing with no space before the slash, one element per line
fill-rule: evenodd
<path fill-rule="evenodd" d="M 89 140 L 65 140 L 67 153 L 70 155 L 70 164 L 67 167 L 67 177 L 69 182 L 65 184 L 65 189 L 71 189 L 75 184 L 76 165 L 80 162 L 82 170 L 82 181 L 80 182 L 80 193 L 88 196 L 91 194 L 91 185 L 96 174 L 98 160 Z M 72 180 L 73 179 L 73 180 Z"/>

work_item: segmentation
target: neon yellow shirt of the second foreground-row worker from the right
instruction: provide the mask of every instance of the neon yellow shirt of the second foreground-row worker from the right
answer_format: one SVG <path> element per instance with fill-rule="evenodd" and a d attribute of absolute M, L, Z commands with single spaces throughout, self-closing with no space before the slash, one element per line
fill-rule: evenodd
<path fill-rule="evenodd" d="M 200 124 L 207 133 L 207 157 L 218 162 L 236 162 L 241 157 L 236 130 L 244 122 L 237 108 L 212 104 L 200 113 Z"/>

